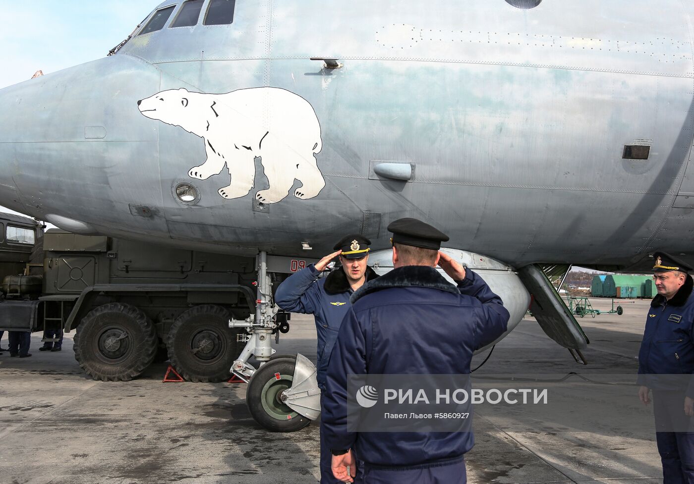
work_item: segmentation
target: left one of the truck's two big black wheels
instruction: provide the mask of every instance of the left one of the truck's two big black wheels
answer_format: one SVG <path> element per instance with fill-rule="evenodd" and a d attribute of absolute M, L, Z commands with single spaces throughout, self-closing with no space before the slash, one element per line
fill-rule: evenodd
<path fill-rule="evenodd" d="M 95 380 L 126 381 L 142 374 L 157 352 L 154 325 L 130 304 L 92 309 L 74 338 L 75 359 Z"/>

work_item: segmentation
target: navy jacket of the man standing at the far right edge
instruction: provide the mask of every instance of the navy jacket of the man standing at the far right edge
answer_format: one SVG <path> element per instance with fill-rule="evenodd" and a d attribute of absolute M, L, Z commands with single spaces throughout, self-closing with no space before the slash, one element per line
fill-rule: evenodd
<path fill-rule="evenodd" d="M 654 376 L 694 373 L 693 286 L 688 275 L 669 301 L 663 295 L 653 298 L 638 352 L 639 384 L 655 390 L 686 390 L 694 397 L 694 385 L 684 388 L 688 379 Z M 675 382 L 678 388 L 670 388 Z"/>

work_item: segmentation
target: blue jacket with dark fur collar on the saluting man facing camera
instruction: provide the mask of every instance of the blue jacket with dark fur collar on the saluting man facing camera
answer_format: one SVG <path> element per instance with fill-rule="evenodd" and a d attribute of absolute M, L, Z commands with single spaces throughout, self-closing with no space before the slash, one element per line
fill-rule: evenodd
<path fill-rule="evenodd" d="M 328 277 L 318 279 L 321 273 L 314 264 L 292 274 L 277 288 L 275 302 L 280 308 L 291 313 L 314 315 L 318 336 L 318 378 L 319 387 L 325 388 L 325 370 L 328 358 L 335 345 L 337 331 L 350 307 L 352 288 L 342 268 L 333 270 Z M 372 268 L 366 268 L 366 280 L 376 279 L 378 275 Z M 317 280 L 316 280 L 317 279 Z"/>

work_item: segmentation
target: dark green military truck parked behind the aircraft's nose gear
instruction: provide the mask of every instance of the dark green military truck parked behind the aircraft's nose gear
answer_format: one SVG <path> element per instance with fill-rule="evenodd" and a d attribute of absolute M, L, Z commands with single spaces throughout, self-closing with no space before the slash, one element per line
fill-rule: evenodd
<path fill-rule="evenodd" d="M 14 218 L 3 217 L 5 239 L 22 255 L 13 253 L 15 266 L 6 268 L 0 330 L 76 329 L 75 358 L 103 381 L 133 379 L 167 358 L 189 381 L 230 378 L 248 334 L 230 329 L 229 319 L 255 311 L 255 257 L 50 229 L 43 236 L 41 274 L 28 279 L 19 273 L 26 272 L 27 249 L 35 247 L 28 241 L 37 241 L 40 225 L 23 217 L 25 225 L 10 225 Z M 24 241 L 10 240 L 10 227 L 34 236 L 22 232 Z M 271 261 L 273 277 L 283 279 L 308 263 L 284 259 Z M 278 315 L 282 332 L 288 319 Z"/>

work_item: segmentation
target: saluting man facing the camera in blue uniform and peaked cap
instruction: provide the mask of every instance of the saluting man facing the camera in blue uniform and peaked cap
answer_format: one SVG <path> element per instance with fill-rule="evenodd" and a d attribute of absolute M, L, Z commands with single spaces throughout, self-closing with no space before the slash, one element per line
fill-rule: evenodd
<path fill-rule="evenodd" d="M 275 302 L 280 308 L 292 313 L 314 315 L 318 336 L 318 386 L 325 389 L 325 370 L 335 345 L 337 331 L 347 312 L 350 295 L 364 282 L 376 279 L 378 275 L 366 265 L 369 260 L 371 241 L 360 234 L 344 236 L 333 248 L 336 252 L 323 257 L 315 265 L 311 264 L 298 273 L 288 277 L 277 288 Z M 339 257 L 341 268 L 333 270 L 328 277 L 319 279 L 328 263 Z M 321 423 L 321 484 L 339 483 L 330 470 L 331 454 L 323 439 Z"/>

